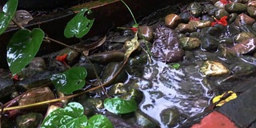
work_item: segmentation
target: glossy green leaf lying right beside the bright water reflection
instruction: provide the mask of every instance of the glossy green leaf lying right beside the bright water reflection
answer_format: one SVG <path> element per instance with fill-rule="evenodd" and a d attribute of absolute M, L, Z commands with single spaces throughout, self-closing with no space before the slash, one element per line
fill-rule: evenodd
<path fill-rule="evenodd" d="M 127 114 L 137 110 L 137 102 L 134 98 L 125 100 L 122 98 L 106 98 L 104 100 L 106 110 L 114 114 Z"/>

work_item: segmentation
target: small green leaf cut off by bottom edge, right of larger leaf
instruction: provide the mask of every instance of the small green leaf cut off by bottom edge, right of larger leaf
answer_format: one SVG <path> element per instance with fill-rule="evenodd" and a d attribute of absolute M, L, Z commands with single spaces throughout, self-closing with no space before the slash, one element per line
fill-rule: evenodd
<path fill-rule="evenodd" d="M 106 116 L 102 114 L 97 114 L 91 117 L 88 121 L 88 127 L 98 127 L 98 128 L 113 128 L 114 126 Z"/>

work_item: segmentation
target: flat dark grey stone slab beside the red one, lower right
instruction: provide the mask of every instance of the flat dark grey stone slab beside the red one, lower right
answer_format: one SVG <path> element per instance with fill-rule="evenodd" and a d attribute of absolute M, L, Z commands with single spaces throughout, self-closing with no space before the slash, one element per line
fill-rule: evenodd
<path fill-rule="evenodd" d="M 219 112 L 225 114 L 230 120 L 235 122 L 239 127 L 254 127 L 256 125 L 256 111 L 255 111 L 255 98 L 256 98 L 256 84 L 255 80 L 249 80 L 248 82 L 243 82 L 238 86 L 250 86 L 240 89 L 234 89 L 237 92 L 242 91 L 238 95 L 238 98 L 226 102 L 221 108 L 218 109 Z"/>

